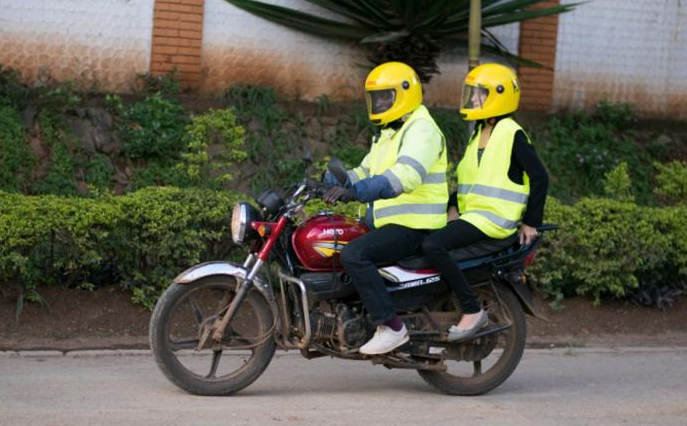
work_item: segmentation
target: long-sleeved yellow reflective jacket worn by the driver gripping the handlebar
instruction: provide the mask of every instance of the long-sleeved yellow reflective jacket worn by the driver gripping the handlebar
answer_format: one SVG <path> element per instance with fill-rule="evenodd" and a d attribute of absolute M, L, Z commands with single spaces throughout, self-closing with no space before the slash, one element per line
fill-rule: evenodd
<path fill-rule="evenodd" d="M 415 123 L 430 123 L 433 131 L 441 136 L 441 152 L 429 170 L 413 158 L 414 153 L 427 150 L 426 140 L 405 137 L 408 129 Z M 436 135 L 428 135 L 436 136 Z M 403 147 L 404 155 L 399 157 Z M 406 168 L 394 168 L 396 163 L 408 165 Z M 448 184 L 446 182 L 446 139 L 429 115 L 429 111 L 420 105 L 412 112 L 403 126 L 398 130 L 384 129 L 379 139 L 372 144 L 370 153 L 363 163 L 348 172 L 352 183 L 360 179 L 384 175 L 392 187 L 400 193 L 395 198 L 374 201 L 374 226 L 379 228 L 388 224 L 397 224 L 413 229 L 439 229 L 446 226 L 446 204 L 448 203 Z M 403 192 L 408 182 L 417 180 L 421 183 L 410 192 Z"/>

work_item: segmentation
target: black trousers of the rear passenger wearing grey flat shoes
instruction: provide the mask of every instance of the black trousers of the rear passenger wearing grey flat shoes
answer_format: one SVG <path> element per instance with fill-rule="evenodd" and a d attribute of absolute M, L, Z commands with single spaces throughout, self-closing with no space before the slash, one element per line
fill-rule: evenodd
<path fill-rule="evenodd" d="M 441 272 L 442 278 L 448 283 L 453 293 L 458 297 L 460 307 L 465 314 L 479 312 L 479 304 L 470 289 L 463 272 L 458 264 L 451 259 L 450 250 L 469 246 L 470 244 L 486 240 L 489 237 L 474 225 L 464 220 L 454 220 L 446 228 L 432 232 L 422 242 L 422 250 L 428 260 Z"/>

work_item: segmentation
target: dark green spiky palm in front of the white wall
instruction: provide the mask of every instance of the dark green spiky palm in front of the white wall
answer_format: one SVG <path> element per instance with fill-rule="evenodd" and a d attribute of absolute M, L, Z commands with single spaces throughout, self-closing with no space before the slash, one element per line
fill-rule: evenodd
<path fill-rule="evenodd" d="M 467 44 L 470 0 L 304 0 L 336 13 L 332 20 L 256 0 L 226 0 L 254 15 L 321 37 L 357 41 L 370 50 L 368 59 L 378 65 L 402 61 L 413 67 L 423 82 L 439 73 L 436 60 L 442 42 Z M 544 0 L 482 0 L 483 49 L 511 61 L 541 67 L 516 56 L 488 28 L 572 10 L 575 4 L 536 10 L 527 8 Z"/>

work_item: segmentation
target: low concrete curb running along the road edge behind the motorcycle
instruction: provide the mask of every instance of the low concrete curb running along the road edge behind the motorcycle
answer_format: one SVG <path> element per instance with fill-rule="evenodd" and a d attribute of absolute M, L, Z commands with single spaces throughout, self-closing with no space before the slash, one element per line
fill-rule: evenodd
<path fill-rule="evenodd" d="M 587 355 L 587 354 L 652 354 L 652 353 L 687 353 L 687 346 L 659 346 L 659 347 L 618 347 L 618 348 L 551 348 L 551 349 L 525 349 L 525 354 L 532 355 Z M 277 358 L 284 356 L 300 356 L 298 351 L 279 351 Z M 103 349 L 103 350 L 21 350 L 0 351 L 0 359 L 7 358 L 99 358 L 99 357 L 131 357 L 152 356 L 149 349 Z"/>

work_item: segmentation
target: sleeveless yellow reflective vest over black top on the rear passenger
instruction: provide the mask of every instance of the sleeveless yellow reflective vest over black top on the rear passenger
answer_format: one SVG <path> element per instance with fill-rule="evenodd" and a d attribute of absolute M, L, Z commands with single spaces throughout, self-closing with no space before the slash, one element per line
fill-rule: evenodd
<path fill-rule="evenodd" d="M 515 233 L 527 207 L 529 176 L 523 172 L 522 185 L 508 178 L 513 138 L 518 130 L 522 128 L 511 118 L 496 123 L 478 163 L 480 128 L 456 169 L 460 218 L 492 238 Z M 527 141 L 531 143 L 529 138 Z"/>

